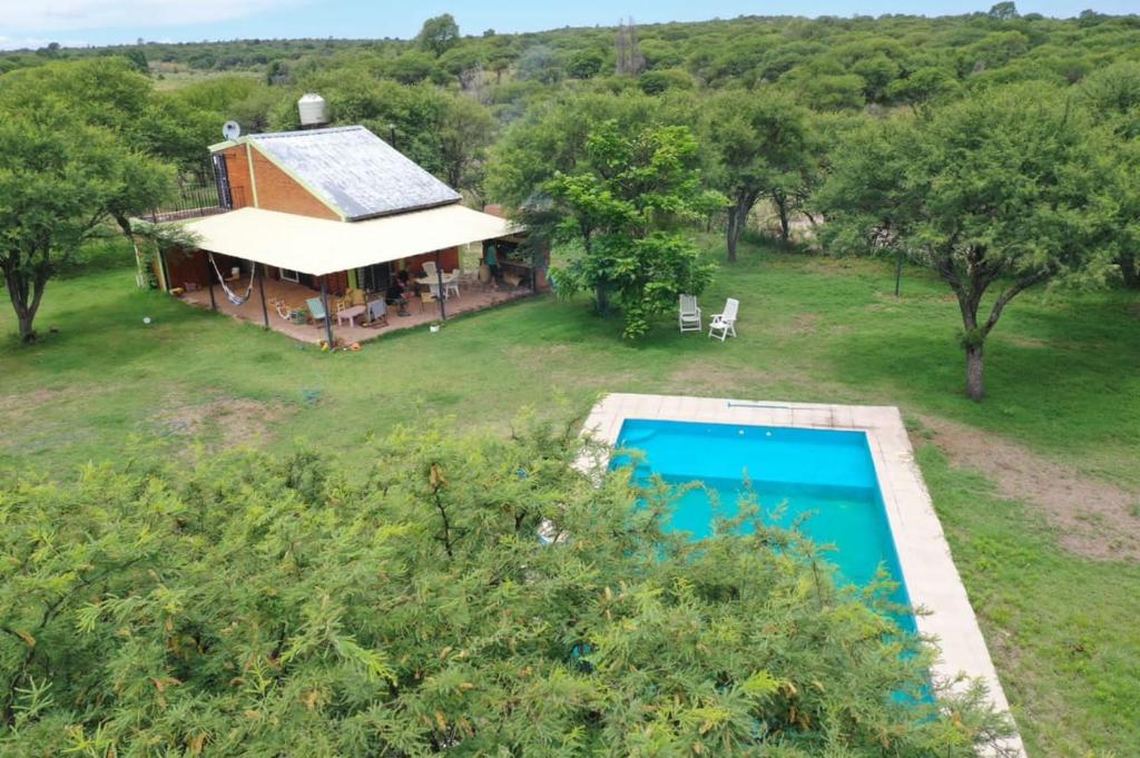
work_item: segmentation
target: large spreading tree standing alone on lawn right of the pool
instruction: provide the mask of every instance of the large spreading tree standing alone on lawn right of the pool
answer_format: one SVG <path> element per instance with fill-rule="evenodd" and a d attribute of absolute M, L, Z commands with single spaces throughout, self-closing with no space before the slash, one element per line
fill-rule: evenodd
<path fill-rule="evenodd" d="M 930 120 L 870 124 L 836 150 L 816 198 L 825 244 L 898 250 L 950 286 L 967 394 L 980 400 L 986 337 L 1005 307 L 1104 250 L 1110 212 L 1098 147 L 1082 113 L 1044 85 L 985 90 Z"/>

